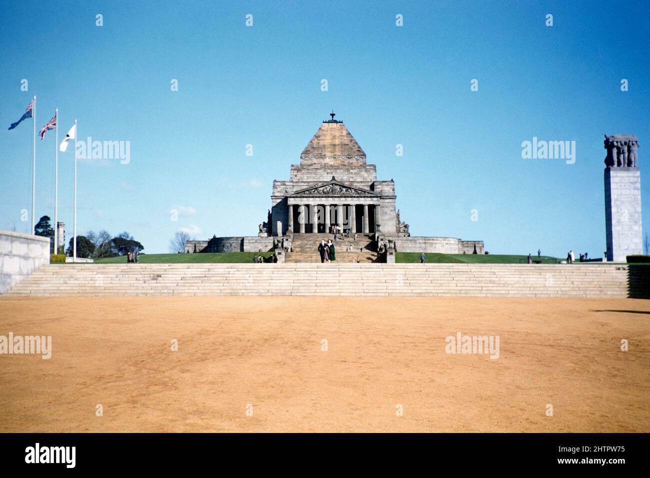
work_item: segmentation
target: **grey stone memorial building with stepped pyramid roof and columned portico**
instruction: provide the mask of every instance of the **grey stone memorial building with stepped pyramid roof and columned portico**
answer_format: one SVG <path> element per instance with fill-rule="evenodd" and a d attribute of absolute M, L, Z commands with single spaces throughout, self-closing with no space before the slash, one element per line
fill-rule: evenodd
<path fill-rule="evenodd" d="M 335 120 L 334 113 L 330 116 L 303 150 L 300 164 L 291 165 L 289 180 L 273 181 L 271 208 L 256 236 L 188 241 L 187 252 L 268 251 L 279 242 L 297 244 L 302 238 L 313 245 L 316 260 L 316 244 L 328 238 L 331 226 L 340 226 L 352 237 L 367 237 L 369 249 L 383 241 L 400 252 L 484 252 L 482 241 L 411 236 L 396 209 L 395 181 L 378 180 L 376 165 L 367 163 L 343 122 Z"/>

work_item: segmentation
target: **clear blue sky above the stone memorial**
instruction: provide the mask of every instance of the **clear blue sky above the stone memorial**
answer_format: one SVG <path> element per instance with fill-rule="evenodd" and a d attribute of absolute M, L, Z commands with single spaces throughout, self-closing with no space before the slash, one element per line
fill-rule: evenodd
<path fill-rule="evenodd" d="M 179 228 L 256 235 L 272 181 L 289 179 L 333 109 L 378 179 L 395 179 L 412 235 L 482 239 L 494 254 L 602 256 L 604 133 L 639 137 L 650 226 L 649 5 L 3 2 L 0 228 L 30 229 L 32 122 L 6 128 L 36 94 L 37 129 L 58 107 L 59 139 L 77 118 L 80 139 L 131 143 L 129 164 L 79 161 L 80 234 L 126 230 L 148 253 L 167 252 Z M 575 141 L 575 164 L 522 159 L 533 137 Z M 37 141 L 36 217 L 53 217 L 54 131 Z M 72 148 L 59 161 L 67 243 Z"/>

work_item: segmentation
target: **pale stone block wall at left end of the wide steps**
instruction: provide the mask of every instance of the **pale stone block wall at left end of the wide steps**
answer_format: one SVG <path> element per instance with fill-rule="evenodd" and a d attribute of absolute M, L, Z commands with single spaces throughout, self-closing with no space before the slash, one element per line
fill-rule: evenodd
<path fill-rule="evenodd" d="M 48 237 L 0 230 L 0 295 L 44 264 L 49 264 Z"/>

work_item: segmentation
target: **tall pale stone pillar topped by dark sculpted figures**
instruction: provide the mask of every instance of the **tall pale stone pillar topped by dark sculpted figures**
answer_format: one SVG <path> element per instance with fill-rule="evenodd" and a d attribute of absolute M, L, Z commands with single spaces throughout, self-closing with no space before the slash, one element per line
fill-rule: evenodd
<path fill-rule="evenodd" d="M 641 174 L 637 165 L 638 138 L 605 136 L 604 189 L 607 260 L 625 262 L 642 254 Z"/>

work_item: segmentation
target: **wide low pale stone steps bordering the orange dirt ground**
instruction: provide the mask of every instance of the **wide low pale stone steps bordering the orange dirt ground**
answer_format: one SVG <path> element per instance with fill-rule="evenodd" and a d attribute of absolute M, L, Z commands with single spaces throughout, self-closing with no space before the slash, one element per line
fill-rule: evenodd
<path fill-rule="evenodd" d="M 5 296 L 650 297 L 649 268 L 629 269 L 624 264 L 51 264 Z"/>

